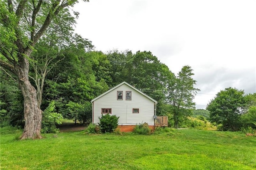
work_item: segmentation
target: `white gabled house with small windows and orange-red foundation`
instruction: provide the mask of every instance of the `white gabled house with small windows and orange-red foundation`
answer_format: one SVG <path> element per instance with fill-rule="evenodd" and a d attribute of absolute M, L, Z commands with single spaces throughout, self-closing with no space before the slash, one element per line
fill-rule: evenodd
<path fill-rule="evenodd" d="M 119 117 L 121 132 L 132 131 L 136 125 L 148 123 L 154 128 L 157 101 L 132 85 L 122 82 L 92 100 L 92 122 L 98 124 L 102 114 Z"/>

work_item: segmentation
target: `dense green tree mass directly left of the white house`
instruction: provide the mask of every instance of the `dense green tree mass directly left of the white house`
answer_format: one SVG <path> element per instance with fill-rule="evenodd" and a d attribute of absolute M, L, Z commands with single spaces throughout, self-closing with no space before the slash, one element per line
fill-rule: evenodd
<path fill-rule="evenodd" d="M 110 79 L 106 55 L 84 48 L 88 49 L 74 45 L 64 51 L 65 60 L 48 73 L 44 94 L 45 102 L 54 100 L 63 117 L 82 124 L 92 119 L 90 101 L 108 90 L 106 81 Z"/>

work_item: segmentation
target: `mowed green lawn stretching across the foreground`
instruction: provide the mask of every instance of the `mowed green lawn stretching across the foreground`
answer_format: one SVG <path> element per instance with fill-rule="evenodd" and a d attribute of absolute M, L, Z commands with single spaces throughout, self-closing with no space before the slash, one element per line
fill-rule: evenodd
<path fill-rule="evenodd" d="M 17 140 L 2 134 L 1 170 L 252 170 L 256 137 L 240 132 L 194 129 L 162 134 L 46 134 Z"/>

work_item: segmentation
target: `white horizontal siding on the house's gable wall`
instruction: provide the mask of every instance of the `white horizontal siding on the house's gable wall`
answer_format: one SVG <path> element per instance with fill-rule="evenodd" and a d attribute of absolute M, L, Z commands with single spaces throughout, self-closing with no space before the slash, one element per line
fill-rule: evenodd
<path fill-rule="evenodd" d="M 117 91 L 123 91 L 123 100 L 117 100 Z M 126 101 L 126 91 L 132 91 L 132 100 Z M 100 121 L 102 108 L 112 109 L 112 115 L 119 117 L 118 125 L 139 125 L 148 123 L 154 125 L 154 101 L 138 93 L 126 84 L 110 91 L 94 101 L 94 123 Z M 132 109 L 139 109 L 139 113 L 132 113 Z"/>

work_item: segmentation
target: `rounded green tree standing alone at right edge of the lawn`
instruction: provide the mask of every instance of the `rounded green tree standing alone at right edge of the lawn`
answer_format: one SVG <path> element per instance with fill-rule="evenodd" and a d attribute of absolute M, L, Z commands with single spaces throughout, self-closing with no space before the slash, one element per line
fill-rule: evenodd
<path fill-rule="evenodd" d="M 210 111 L 210 121 L 216 123 L 220 130 L 236 131 L 241 127 L 240 116 L 245 106 L 244 91 L 228 87 L 217 93 L 206 109 Z"/>

